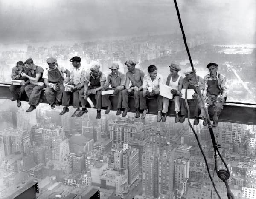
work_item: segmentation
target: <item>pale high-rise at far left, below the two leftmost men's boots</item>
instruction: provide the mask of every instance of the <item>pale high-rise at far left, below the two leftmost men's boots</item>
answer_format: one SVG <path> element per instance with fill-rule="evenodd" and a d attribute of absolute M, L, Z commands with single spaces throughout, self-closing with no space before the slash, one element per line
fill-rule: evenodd
<path fill-rule="evenodd" d="M 22 103 L 21 107 L 17 111 L 17 128 L 23 129 L 31 134 L 31 127 L 36 125 L 36 113 L 32 111 L 31 113 L 26 113 L 29 108 L 28 104 Z"/>

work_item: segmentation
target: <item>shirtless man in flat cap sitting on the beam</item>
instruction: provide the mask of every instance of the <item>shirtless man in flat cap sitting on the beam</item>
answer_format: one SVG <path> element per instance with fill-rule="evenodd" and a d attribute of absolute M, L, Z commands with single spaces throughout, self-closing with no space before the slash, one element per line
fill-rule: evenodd
<path fill-rule="evenodd" d="M 128 104 L 129 96 L 134 96 L 134 106 L 136 108 L 135 117 L 140 117 L 140 92 L 142 92 L 142 82 L 144 78 L 144 72 L 140 69 L 135 68 L 135 60 L 127 60 L 125 65 L 127 66 L 128 72 L 126 73 L 125 88 L 122 90 L 122 108 L 125 108 L 122 113 L 122 117 L 127 115 L 130 110 Z M 129 86 L 131 82 L 131 87 Z"/>

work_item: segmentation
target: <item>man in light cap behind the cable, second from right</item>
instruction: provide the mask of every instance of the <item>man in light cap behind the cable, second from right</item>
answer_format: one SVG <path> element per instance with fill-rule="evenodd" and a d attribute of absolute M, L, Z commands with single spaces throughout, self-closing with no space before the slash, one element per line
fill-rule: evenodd
<path fill-rule="evenodd" d="M 196 72 L 196 68 L 195 72 Z M 194 120 L 194 125 L 198 125 L 199 124 L 199 113 L 198 113 L 198 103 L 199 103 L 199 96 L 198 93 L 196 91 L 196 86 L 199 86 L 199 89 L 201 90 L 201 92 L 204 89 L 204 79 L 198 75 L 196 75 L 196 80 L 192 71 L 191 67 L 185 68 L 184 69 L 184 79 L 183 79 L 183 85 L 182 88 L 183 89 L 193 89 L 195 91 L 195 93 L 192 95 L 192 98 L 194 100 L 195 103 L 195 111 L 194 111 L 194 116 L 195 116 L 195 120 Z M 185 96 L 184 96 L 185 97 Z M 191 99 L 188 99 L 188 101 L 190 101 Z M 180 123 L 183 123 L 185 121 L 185 118 L 188 114 L 188 110 L 185 104 L 185 99 L 180 98 Z"/>

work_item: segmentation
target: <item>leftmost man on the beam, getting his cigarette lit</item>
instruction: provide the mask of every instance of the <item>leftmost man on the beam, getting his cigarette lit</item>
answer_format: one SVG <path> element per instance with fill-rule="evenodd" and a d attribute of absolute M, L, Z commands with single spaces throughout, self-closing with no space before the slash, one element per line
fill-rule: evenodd
<path fill-rule="evenodd" d="M 11 78 L 12 80 L 24 80 L 24 83 L 21 83 L 21 85 L 11 85 L 9 90 L 12 93 L 12 99 L 11 101 L 17 100 L 17 106 L 21 106 L 20 98 L 23 93 L 25 93 L 25 86 L 29 83 L 29 80 L 26 77 L 22 77 L 21 73 L 25 72 L 24 63 L 22 61 L 19 61 L 16 63 L 16 66 L 12 68 L 12 74 Z"/>

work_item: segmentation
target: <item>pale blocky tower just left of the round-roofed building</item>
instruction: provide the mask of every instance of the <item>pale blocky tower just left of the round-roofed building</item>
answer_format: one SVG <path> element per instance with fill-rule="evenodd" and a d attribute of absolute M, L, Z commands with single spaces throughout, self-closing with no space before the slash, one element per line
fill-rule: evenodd
<path fill-rule="evenodd" d="M 69 142 L 65 136 L 58 136 L 52 140 L 52 159 L 63 160 L 64 156 L 70 152 Z"/>

